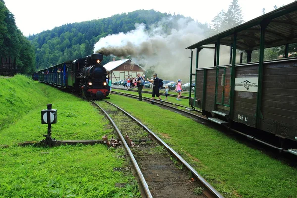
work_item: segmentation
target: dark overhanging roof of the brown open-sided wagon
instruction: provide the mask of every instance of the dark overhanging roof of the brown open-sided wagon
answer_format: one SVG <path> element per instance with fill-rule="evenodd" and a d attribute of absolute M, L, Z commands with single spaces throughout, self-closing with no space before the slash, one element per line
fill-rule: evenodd
<path fill-rule="evenodd" d="M 230 46 L 234 33 L 237 33 L 236 49 L 260 49 L 260 28 L 265 22 L 269 22 L 269 25 L 265 30 L 264 48 L 297 42 L 297 1 L 204 39 L 186 49 L 203 48 L 203 45 L 215 44 L 218 39 L 220 45 Z"/>

